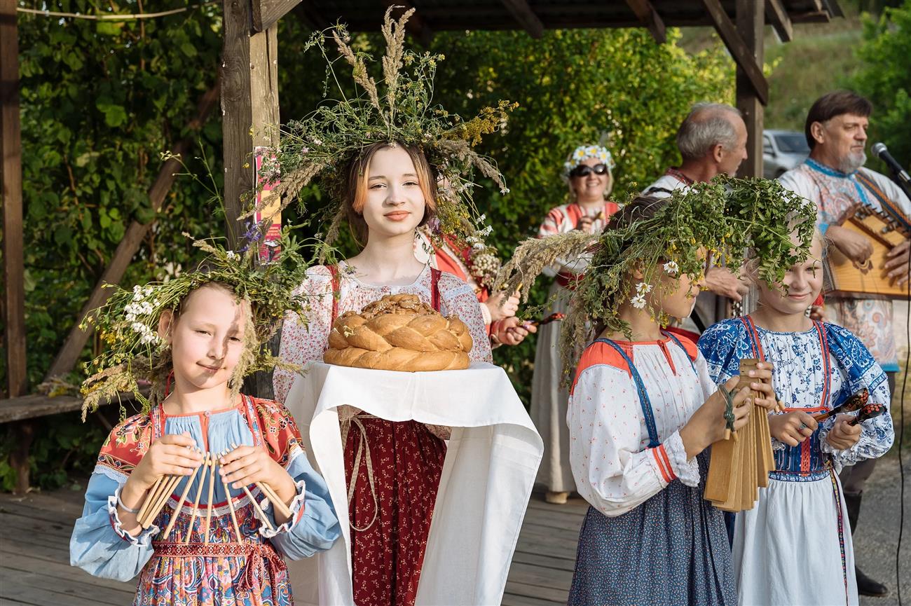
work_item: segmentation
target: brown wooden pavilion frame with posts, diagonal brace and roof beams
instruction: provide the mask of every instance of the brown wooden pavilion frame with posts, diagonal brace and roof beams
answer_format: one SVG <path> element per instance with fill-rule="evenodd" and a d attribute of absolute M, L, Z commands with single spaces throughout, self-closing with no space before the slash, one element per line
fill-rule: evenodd
<path fill-rule="evenodd" d="M 274 146 L 279 123 L 278 36 L 282 16 L 293 14 L 314 29 L 337 21 L 353 31 L 376 31 L 389 5 L 415 7 L 409 32 L 428 45 L 435 32 L 464 29 L 517 29 L 542 36 L 545 29 L 570 27 L 645 27 L 657 44 L 670 26 L 712 26 L 737 65 L 737 107 L 748 132 L 748 159 L 742 176 L 763 174 L 763 108 L 769 99 L 763 77 L 763 30 L 766 24 L 783 42 L 793 38 L 793 24 L 825 22 L 843 16 L 837 0 L 619 0 L 570 6 L 562 0 L 223 0 L 224 46 L 218 83 L 200 98 L 190 128 L 200 128 L 220 98 L 224 140 L 226 232 L 236 241 L 241 194 L 255 182 L 251 161 L 259 146 Z M 369 8 L 369 10 L 368 10 Z M 479 18 L 477 15 L 484 15 Z M 19 447 L 13 464 L 17 490 L 28 488 L 29 418 L 75 409 L 77 398 L 26 395 L 25 292 L 23 289 L 22 169 L 18 102 L 16 0 L 0 0 L 0 197 L 3 200 L 6 398 L 0 400 L 0 423 L 15 421 Z M 176 149 L 188 146 L 180 142 Z M 176 166 L 166 163 L 149 190 L 154 208 L 164 200 Z M 65 375 L 77 363 L 90 335 L 78 328 L 82 317 L 107 299 L 104 282 L 117 283 L 138 251 L 150 225 L 128 228 L 95 291 L 84 305 L 48 372 Z M 265 388 L 266 385 L 263 385 Z M 56 402 L 49 402 L 49 400 Z M 73 400 L 74 402 L 70 402 Z"/>

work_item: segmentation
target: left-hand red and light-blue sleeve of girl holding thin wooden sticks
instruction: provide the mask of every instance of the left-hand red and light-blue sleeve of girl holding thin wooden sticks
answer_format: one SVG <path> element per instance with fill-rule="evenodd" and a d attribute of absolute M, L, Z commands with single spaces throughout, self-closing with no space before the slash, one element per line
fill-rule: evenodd
<path fill-rule="evenodd" d="M 86 504 L 69 540 L 69 563 L 105 579 L 130 580 L 152 557 L 154 524 L 133 537 L 121 527 L 118 493 L 148 449 L 148 416 L 133 416 L 116 426 L 101 447 L 88 480 Z M 138 456 L 137 456 L 138 455 Z"/>

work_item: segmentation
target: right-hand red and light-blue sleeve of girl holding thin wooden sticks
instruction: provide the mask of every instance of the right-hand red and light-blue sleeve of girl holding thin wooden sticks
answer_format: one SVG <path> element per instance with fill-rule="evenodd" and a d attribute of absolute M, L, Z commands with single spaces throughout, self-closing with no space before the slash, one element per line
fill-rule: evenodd
<path fill-rule="evenodd" d="M 329 497 L 329 488 L 307 459 L 301 432 L 288 409 L 269 400 L 254 402 L 267 450 L 297 486 L 297 496 L 290 506 L 292 519 L 281 526 L 275 522 L 271 503 L 268 499 L 263 500 L 263 512 L 270 517 L 273 529 L 262 527 L 260 532 L 291 560 L 309 558 L 318 551 L 328 550 L 342 531 Z"/>

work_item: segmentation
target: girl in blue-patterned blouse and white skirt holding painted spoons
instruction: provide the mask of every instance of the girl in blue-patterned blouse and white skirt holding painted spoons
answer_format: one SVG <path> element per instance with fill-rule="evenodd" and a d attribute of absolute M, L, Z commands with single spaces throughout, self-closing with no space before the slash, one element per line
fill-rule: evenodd
<path fill-rule="evenodd" d="M 757 283 L 755 313 L 715 324 L 699 341 L 718 384 L 739 374 L 743 358 L 772 362 L 773 386 L 783 400 L 783 413 L 769 416 L 775 466 L 768 488 L 760 488 L 756 507 L 736 514 L 734 523 L 743 604 L 858 603 L 836 474 L 892 446 L 892 420 L 882 414 L 889 389 L 854 334 L 804 314 L 823 287 L 822 258 L 816 234 L 811 255 L 778 283 Z M 847 410 L 861 416 L 840 414 Z"/>

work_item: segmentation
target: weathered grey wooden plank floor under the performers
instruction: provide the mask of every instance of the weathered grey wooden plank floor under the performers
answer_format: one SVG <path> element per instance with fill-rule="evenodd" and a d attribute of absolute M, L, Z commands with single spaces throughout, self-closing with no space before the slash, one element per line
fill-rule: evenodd
<path fill-rule="evenodd" d="M 128 606 L 136 582 L 97 579 L 69 565 L 69 537 L 82 492 L 26 498 L 0 494 L 0 606 Z M 504 606 L 565 604 L 586 506 L 548 505 L 534 496 L 509 570 Z"/>

